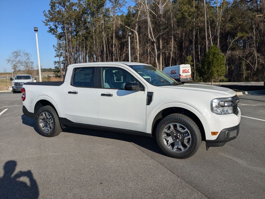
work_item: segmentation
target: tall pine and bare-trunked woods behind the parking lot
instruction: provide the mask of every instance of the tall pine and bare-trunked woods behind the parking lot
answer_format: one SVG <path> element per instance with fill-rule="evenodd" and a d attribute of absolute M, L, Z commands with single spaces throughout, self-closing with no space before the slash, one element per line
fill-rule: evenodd
<path fill-rule="evenodd" d="M 134 3 L 124 13 L 124 0 L 51 0 L 43 22 L 61 76 L 73 63 L 128 61 L 131 32 L 131 61 L 160 70 L 189 63 L 196 81 L 264 80 L 264 0 Z"/>

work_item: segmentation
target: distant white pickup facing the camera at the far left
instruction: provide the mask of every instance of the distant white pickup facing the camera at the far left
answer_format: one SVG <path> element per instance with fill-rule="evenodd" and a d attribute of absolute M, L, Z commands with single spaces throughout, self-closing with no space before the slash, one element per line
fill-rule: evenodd
<path fill-rule="evenodd" d="M 32 77 L 32 75 L 16 75 L 15 79 L 12 77 L 10 78 L 10 81 L 12 81 L 12 91 L 13 93 L 16 93 L 17 91 L 21 91 L 21 88 L 23 84 L 28 82 L 36 82 L 37 78 Z"/>

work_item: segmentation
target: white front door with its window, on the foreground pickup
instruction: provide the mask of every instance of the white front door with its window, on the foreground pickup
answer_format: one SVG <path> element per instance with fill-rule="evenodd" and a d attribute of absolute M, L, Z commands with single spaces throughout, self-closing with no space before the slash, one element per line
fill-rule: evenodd
<path fill-rule="evenodd" d="M 126 82 L 139 82 L 123 67 L 102 66 L 102 88 L 97 90 L 99 124 L 103 127 L 146 132 L 146 97 L 143 91 L 124 90 Z M 140 84 L 143 88 L 144 86 Z"/>

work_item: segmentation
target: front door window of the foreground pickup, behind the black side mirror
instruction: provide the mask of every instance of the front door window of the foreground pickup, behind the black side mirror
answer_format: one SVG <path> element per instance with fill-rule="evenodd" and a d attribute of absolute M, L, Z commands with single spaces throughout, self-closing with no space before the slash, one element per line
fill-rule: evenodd
<path fill-rule="evenodd" d="M 124 89 L 128 82 L 136 82 L 136 79 L 127 71 L 121 68 L 102 68 L 102 87 Z"/>

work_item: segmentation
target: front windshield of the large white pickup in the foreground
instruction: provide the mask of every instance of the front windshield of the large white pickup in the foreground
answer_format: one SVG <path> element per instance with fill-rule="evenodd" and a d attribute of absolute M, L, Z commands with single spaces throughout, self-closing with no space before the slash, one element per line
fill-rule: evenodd
<path fill-rule="evenodd" d="M 167 76 L 162 71 L 154 68 L 153 66 L 148 65 L 129 65 L 134 71 L 139 75 L 144 76 L 144 80 L 154 86 L 170 86 L 170 85 L 179 85 L 171 77 Z"/>

